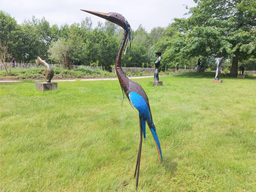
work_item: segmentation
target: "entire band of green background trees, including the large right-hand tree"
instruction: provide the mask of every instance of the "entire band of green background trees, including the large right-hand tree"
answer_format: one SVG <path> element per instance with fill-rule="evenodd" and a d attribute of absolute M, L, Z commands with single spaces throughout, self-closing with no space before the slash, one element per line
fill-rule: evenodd
<path fill-rule="evenodd" d="M 166 67 L 192 68 L 199 58 L 204 68 L 216 68 L 216 58 L 224 56 L 222 68 L 237 74 L 239 67 L 256 70 L 256 0 L 194 0 L 190 17 L 175 18 L 168 27 L 146 32 L 140 25 L 132 30 L 131 49 L 122 56 L 122 66 L 154 67 L 162 52 L 160 70 Z M 170 20 L 171 21 L 171 20 Z M 1 61 L 35 62 L 40 56 L 65 68 L 72 64 L 111 69 L 123 37 L 123 29 L 105 21 L 92 28 L 90 17 L 70 26 L 49 25 L 43 17 L 17 24 L 0 11 Z"/>

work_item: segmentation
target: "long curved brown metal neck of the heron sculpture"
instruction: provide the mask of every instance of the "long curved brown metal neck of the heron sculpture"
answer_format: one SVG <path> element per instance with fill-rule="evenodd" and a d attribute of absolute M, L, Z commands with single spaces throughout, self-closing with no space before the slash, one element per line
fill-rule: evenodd
<path fill-rule="evenodd" d="M 120 45 L 119 51 L 117 52 L 116 64 L 115 64 L 117 77 L 119 79 L 122 89 L 125 92 L 128 90 L 129 79 L 125 76 L 125 73 L 122 71 L 121 58 L 122 58 L 122 51 L 125 47 L 125 41 L 127 39 L 127 36 L 128 36 L 128 32 L 126 30 L 124 30 L 124 37 L 122 39 L 122 43 Z"/>

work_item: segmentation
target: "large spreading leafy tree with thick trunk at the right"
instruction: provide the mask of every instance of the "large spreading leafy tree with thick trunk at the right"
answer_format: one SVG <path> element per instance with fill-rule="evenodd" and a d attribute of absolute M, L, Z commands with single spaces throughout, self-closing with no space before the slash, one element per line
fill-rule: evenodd
<path fill-rule="evenodd" d="M 239 61 L 256 55 L 256 0 L 194 0 L 188 19 L 175 19 L 169 57 L 232 59 L 230 74 Z M 167 55 L 167 54 L 166 54 Z"/>

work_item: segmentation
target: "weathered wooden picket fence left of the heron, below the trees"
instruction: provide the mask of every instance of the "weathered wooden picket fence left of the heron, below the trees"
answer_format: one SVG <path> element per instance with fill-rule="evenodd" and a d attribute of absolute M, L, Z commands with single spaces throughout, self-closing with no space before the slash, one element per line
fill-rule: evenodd
<path fill-rule="evenodd" d="M 49 64 L 51 67 L 62 67 L 61 64 Z M 12 63 L 6 63 L 7 68 L 19 68 L 19 69 L 29 69 L 29 68 L 41 68 L 44 66 L 37 66 L 35 63 L 16 63 L 15 67 L 12 67 Z M 79 67 L 86 67 L 90 69 L 103 69 L 102 66 L 87 66 L 87 65 L 73 65 L 74 69 L 77 69 Z M 5 70 L 4 65 L 0 64 L 0 70 Z"/>

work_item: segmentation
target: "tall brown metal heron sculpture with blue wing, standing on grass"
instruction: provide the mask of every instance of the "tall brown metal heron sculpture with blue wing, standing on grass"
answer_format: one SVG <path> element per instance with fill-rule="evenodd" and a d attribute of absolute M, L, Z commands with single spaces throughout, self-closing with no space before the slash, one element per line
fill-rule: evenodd
<path fill-rule="evenodd" d="M 122 39 L 122 43 L 120 45 L 119 51 L 117 52 L 116 56 L 116 74 L 119 79 L 120 85 L 122 87 L 122 90 L 124 91 L 125 95 L 127 96 L 128 100 L 131 102 L 131 104 L 139 111 L 139 119 L 140 119 L 140 145 L 139 145 L 139 151 L 138 151 L 138 156 L 137 156 L 137 163 L 136 163 L 136 168 L 134 172 L 134 178 L 136 177 L 137 174 L 137 179 L 136 179 L 136 189 L 138 187 L 138 181 L 139 181 L 139 172 L 140 172 L 140 156 L 141 156 L 141 146 L 142 146 L 142 137 L 145 137 L 145 123 L 147 122 L 148 127 L 150 128 L 151 133 L 153 134 L 155 143 L 157 145 L 157 151 L 158 151 L 158 156 L 159 156 L 159 162 L 161 163 L 162 158 L 162 152 L 160 148 L 160 143 L 157 137 L 157 132 L 156 128 L 154 126 L 154 123 L 152 121 L 152 115 L 148 103 L 148 97 L 143 90 L 143 88 L 140 86 L 135 81 L 132 81 L 131 79 L 128 79 L 125 76 L 125 73 L 122 71 L 121 68 L 121 56 L 122 56 L 122 51 L 125 46 L 125 41 L 127 40 L 126 43 L 126 48 L 128 45 L 128 37 L 130 40 L 130 47 L 131 47 L 131 27 L 128 21 L 119 13 L 102 13 L 102 12 L 94 12 L 94 11 L 88 11 L 88 10 L 82 10 L 84 12 L 96 15 L 98 17 L 102 17 L 106 20 L 109 20 L 113 23 L 116 23 L 117 25 L 121 26 L 124 29 L 124 37 Z M 126 49 L 125 49 L 126 51 Z"/>

